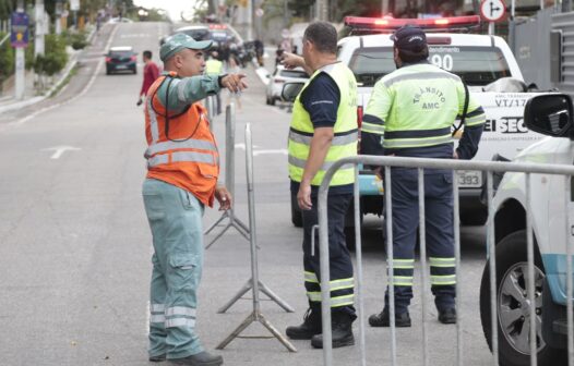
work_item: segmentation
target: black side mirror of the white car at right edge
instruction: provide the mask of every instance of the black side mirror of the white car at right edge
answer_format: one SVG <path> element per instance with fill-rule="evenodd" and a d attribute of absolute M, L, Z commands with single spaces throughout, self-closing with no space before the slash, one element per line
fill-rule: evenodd
<path fill-rule="evenodd" d="M 565 94 L 536 96 L 524 109 L 529 130 L 553 137 L 570 137 L 573 115 L 572 99 Z"/>

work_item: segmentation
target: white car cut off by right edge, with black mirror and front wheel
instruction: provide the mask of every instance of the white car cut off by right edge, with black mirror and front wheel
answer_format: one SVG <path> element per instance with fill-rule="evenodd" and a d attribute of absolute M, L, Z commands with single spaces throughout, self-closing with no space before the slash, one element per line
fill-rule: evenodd
<path fill-rule="evenodd" d="M 574 124 L 571 98 L 543 95 L 528 101 L 525 120 L 546 137 L 519 152 L 514 161 L 572 166 Z M 504 174 L 492 202 L 497 257 L 495 306 L 501 366 L 530 365 L 530 309 L 536 314 L 538 365 L 566 365 L 566 257 L 574 245 L 572 179 L 533 174 L 530 200 L 524 173 Z M 529 301 L 526 215 L 533 222 L 535 303 Z M 574 252 L 574 251 L 572 251 Z M 492 255 L 492 254 L 491 254 Z M 489 264 L 480 286 L 480 316 L 492 347 Z"/>

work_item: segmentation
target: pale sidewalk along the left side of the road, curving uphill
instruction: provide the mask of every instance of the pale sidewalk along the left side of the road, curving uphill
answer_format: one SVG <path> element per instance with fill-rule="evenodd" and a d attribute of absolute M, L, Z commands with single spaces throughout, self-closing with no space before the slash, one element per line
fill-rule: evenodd
<path fill-rule="evenodd" d="M 96 29 L 93 28 L 91 30 L 91 34 L 87 37 L 87 40 L 89 44 L 94 39 L 95 33 L 96 33 Z M 49 98 L 53 94 L 53 91 L 57 90 L 61 86 L 61 84 L 65 81 L 68 75 L 70 75 L 70 72 L 72 72 L 72 70 L 75 68 L 75 65 L 77 64 L 77 59 L 83 52 L 84 50 L 77 50 L 77 51 L 73 51 L 69 53 L 70 58 L 68 60 L 65 68 L 56 76 L 57 81 L 53 83 L 53 85 L 48 90 L 46 90 L 43 95 L 39 95 L 39 96 L 33 95 L 34 89 L 29 90 L 28 88 L 26 88 L 26 93 L 28 95 L 24 95 L 23 100 L 16 100 L 14 97 L 14 86 L 10 87 L 4 94 L 4 96 L 0 97 L 0 114 L 9 112 L 9 111 L 26 108 L 28 106 L 38 103 Z M 26 77 L 33 77 L 32 75 L 33 73 L 27 73 Z"/>

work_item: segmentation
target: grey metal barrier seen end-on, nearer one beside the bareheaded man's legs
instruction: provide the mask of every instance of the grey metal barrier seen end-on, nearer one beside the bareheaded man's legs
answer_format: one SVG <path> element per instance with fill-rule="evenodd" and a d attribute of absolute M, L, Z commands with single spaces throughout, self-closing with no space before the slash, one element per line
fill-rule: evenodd
<path fill-rule="evenodd" d="M 249 286 L 246 286 L 240 291 L 231 304 L 243 295 L 251 288 L 253 291 L 253 312 L 237 327 L 231 334 L 229 334 L 219 345 L 217 350 L 223 350 L 234 339 L 241 338 L 241 332 L 246 330 L 252 322 L 261 322 L 267 330 L 279 340 L 279 342 L 287 347 L 290 352 L 297 352 L 297 349 L 285 338 L 283 334 L 263 316 L 261 313 L 260 289 L 262 292 L 267 294 L 272 300 L 279 304 L 287 312 L 292 312 L 289 305 L 277 297 L 271 292 L 260 280 L 259 280 L 259 263 L 258 263 L 258 244 L 256 244 L 256 231 L 255 231 L 255 193 L 253 190 L 253 147 L 251 145 L 251 126 L 248 123 L 246 125 L 246 171 L 248 182 L 248 196 L 249 196 L 249 224 L 250 224 L 250 242 L 251 242 L 251 279 L 248 281 Z M 230 306 L 230 304 L 229 304 Z M 222 313 L 222 312 L 219 312 Z M 267 338 L 267 337 L 249 337 L 249 338 Z"/>

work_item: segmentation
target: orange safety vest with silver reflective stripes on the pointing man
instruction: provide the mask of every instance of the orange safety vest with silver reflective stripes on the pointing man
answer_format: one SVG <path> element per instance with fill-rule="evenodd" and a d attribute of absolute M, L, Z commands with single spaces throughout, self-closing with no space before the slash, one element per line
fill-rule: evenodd
<path fill-rule="evenodd" d="M 148 147 L 144 156 L 147 159 L 147 178 L 189 191 L 203 204 L 213 206 L 219 175 L 219 154 L 210 131 L 206 109 L 195 102 L 180 113 L 168 115 L 167 108 L 157 97 L 162 83 L 170 82 L 166 78 L 158 77 L 146 97 L 145 136 Z"/>

